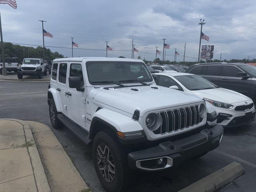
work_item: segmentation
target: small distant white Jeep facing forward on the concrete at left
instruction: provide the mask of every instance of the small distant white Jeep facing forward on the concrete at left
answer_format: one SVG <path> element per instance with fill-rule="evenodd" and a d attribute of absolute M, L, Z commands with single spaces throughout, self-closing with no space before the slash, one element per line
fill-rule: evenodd
<path fill-rule="evenodd" d="M 42 79 L 42 75 L 47 75 L 46 63 L 40 58 L 24 58 L 22 65 L 18 67 L 18 79 L 22 79 L 23 75 L 35 75 L 38 79 Z"/>

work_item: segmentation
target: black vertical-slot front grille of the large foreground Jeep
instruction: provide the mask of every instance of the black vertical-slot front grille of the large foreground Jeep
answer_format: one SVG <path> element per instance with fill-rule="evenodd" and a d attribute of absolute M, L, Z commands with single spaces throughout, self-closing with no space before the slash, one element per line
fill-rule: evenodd
<path fill-rule="evenodd" d="M 165 112 L 159 112 L 162 123 L 160 127 L 154 131 L 154 134 L 166 134 L 173 131 L 190 128 L 202 122 L 200 118 L 198 105 Z"/>

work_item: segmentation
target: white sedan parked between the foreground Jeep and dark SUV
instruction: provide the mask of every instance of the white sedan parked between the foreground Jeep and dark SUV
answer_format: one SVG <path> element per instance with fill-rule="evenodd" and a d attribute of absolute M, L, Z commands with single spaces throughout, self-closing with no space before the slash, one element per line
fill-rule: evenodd
<path fill-rule="evenodd" d="M 188 92 L 203 98 L 211 104 L 217 114 L 217 124 L 236 127 L 254 121 L 253 101 L 238 92 L 220 88 L 208 80 L 189 73 L 153 74 L 156 84 Z"/>

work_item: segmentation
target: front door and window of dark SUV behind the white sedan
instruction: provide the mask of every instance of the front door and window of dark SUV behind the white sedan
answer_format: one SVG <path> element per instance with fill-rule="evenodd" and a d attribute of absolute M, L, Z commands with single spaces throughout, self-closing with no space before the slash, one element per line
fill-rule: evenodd
<path fill-rule="evenodd" d="M 251 79 L 238 77 L 238 72 L 244 72 L 240 68 L 232 65 L 222 66 L 222 76 L 220 76 L 219 85 L 222 88 L 230 89 L 251 97 Z"/>

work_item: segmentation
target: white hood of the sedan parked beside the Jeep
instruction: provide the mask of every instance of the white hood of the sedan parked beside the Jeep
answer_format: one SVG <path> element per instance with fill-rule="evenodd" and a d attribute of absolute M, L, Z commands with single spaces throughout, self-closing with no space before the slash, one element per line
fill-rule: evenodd
<path fill-rule="evenodd" d="M 250 98 L 243 94 L 224 88 L 195 90 L 191 92 L 200 98 L 208 98 L 229 104 L 250 100 Z"/>

